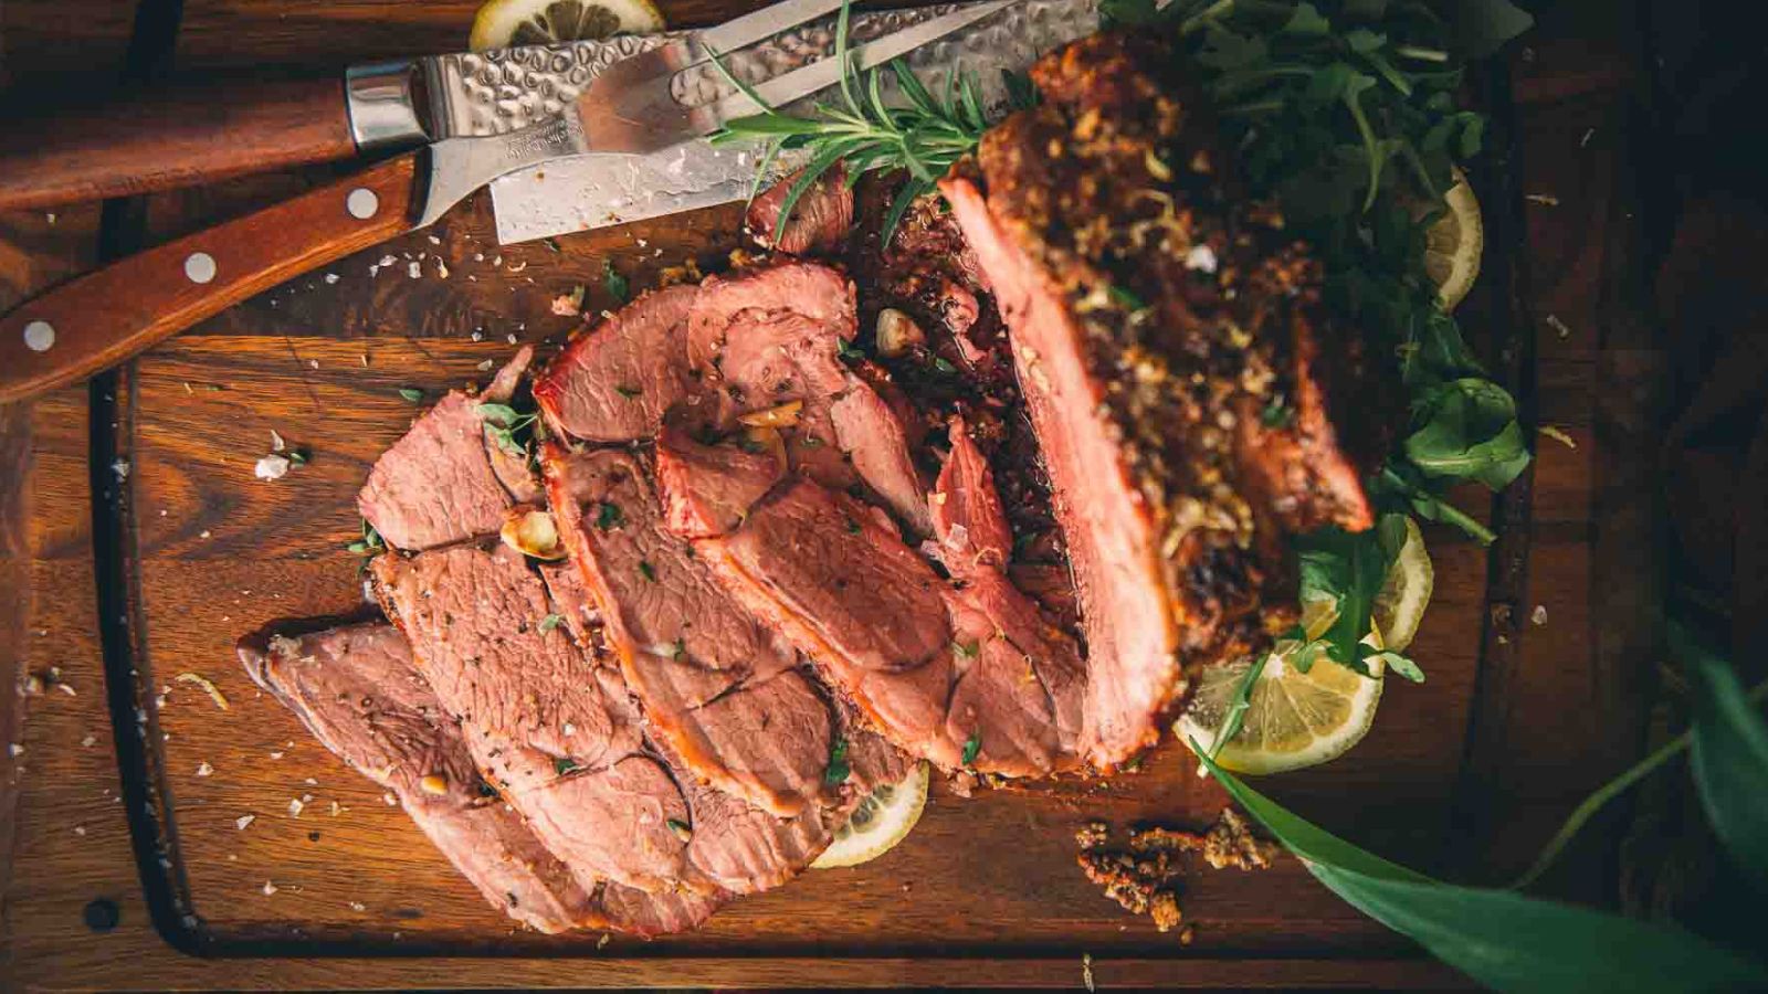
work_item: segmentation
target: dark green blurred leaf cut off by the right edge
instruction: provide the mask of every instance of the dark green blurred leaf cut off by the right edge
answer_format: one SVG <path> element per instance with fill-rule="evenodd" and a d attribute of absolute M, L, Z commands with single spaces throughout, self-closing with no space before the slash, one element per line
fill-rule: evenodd
<path fill-rule="evenodd" d="M 1768 722 L 1726 660 L 1706 651 L 1678 623 L 1669 644 L 1694 684 L 1690 768 L 1713 833 L 1736 863 L 1768 884 Z"/>

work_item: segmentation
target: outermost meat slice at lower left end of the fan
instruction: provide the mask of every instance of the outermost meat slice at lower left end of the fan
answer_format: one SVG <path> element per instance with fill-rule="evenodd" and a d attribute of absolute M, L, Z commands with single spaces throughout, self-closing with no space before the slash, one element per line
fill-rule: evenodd
<path fill-rule="evenodd" d="M 391 791 L 479 893 L 541 932 L 654 936 L 704 921 L 718 897 L 583 886 L 481 780 L 460 727 L 385 623 L 240 642 L 246 672 L 354 769 Z"/>

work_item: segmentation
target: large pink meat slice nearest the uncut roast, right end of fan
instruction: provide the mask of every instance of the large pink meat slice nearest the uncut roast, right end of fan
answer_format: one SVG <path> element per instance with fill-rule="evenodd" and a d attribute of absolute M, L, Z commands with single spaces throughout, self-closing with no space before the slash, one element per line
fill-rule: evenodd
<path fill-rule="evenodd" d="M 695 548 L 911 755 L 1006 776 L 1077 764 L 1078 653 L 997 570 L 953 585 L 882 515 L 812 479 Z"/>

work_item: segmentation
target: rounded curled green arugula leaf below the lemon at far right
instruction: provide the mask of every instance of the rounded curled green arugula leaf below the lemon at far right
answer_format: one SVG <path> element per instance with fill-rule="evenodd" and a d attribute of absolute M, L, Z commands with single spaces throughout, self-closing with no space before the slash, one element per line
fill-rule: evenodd
<path fill-rule="evenodd" d="M 1478 479 L 1503 490 L 1529 465 L 1517 401 L 1497 384 L 1450 380 L 1427 389 L 1414 407 L 1420 426 L 1402 451 L 1425 476 Z"/>

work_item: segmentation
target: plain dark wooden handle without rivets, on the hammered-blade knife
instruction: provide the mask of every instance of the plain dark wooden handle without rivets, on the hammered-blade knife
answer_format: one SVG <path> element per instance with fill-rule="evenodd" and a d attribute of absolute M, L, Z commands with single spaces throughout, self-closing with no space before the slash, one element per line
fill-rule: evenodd
<path fill-rule="evenodd" d="M 209 80 L 0 120 L 0 210 L 355 156 L 341 78 Z"/>

